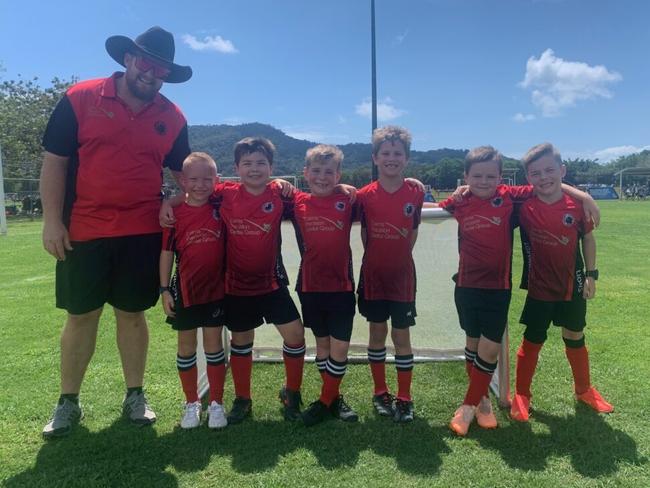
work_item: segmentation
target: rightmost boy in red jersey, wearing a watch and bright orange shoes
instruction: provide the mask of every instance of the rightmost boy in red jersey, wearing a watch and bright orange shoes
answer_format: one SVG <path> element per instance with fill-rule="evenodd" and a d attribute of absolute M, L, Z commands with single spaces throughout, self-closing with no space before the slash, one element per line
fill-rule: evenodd
<path fill-rule="evenodd" d="M 597 412 L 612 412 L 614 407 L 591 385 L 583 332 L 586 300 L 594 297 L 598 278 L 593 225 L 584 218 L 582 205 L 562 193 L 560 184 L 566 167 L 553 145 L 531 148 L 522 164 L 536 197 L 526 201 L 520 211 L 522 287 L 528 289 L 528 296 L 520 319 L 526 330 L 517 352 L 516 394 L 510 416 L 528 421 L 530 386 L 551 322 L 562 327 L 577 400 Z"/>

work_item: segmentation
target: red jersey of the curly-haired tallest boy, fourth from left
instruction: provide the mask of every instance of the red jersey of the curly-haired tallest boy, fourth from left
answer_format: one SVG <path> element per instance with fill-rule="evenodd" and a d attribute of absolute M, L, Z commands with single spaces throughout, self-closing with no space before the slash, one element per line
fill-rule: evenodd
<path fill-rule="evenodd" d="M 404 183 L 388 193 L 375 181 L 357 193 L 366 246 L 359 293 L 366 300 L 415 300 L 413 232 L 420 225 L 424 193 Z"/>

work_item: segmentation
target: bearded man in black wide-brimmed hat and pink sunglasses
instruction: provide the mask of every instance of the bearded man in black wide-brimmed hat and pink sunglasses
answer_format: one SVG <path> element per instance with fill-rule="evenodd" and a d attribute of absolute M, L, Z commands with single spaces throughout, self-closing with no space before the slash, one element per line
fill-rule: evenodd
<path fill-rule="evenodd" d="M 124 415 L 139 425 L 156 420 L 142 385 L 144 310 L 158 299 L 162 168 L 177 176 L 190 153 L 187 122 L 159 90 L 192 70 L 174 64 L 174 38 L 160 27 L 135 41 L 109 37 L 106 50 L 125 71 L 72 86 L 43 137 L 43 246 L 57 259 L 56 306 L 68 312 L 61 396 L 45 437 L 68 434 L 83 416 L 79 390 L 105 303 L 117 323 Z"/>

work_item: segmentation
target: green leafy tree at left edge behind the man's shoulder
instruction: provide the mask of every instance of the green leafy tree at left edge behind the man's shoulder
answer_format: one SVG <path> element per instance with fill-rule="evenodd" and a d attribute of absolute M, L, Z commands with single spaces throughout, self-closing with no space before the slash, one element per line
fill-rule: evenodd
<path fill-rule="evenodd" d="M 43 88 L 38 78 L 0 82 L 0 146 L 5 178 L 38 178 L 41 139 L 56 103 L 76 79 L 54 78 Z"/>

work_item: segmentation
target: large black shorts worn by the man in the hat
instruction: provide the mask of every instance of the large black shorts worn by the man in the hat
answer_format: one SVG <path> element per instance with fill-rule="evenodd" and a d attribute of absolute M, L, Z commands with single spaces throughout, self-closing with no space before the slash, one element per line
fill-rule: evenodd
<path fill-rule="evenodd" d="M 158 301 L 160 233 L 72 242 L 56 263 L 56 306 L 78 315 L 105 303 L 142 312 Z"/>

